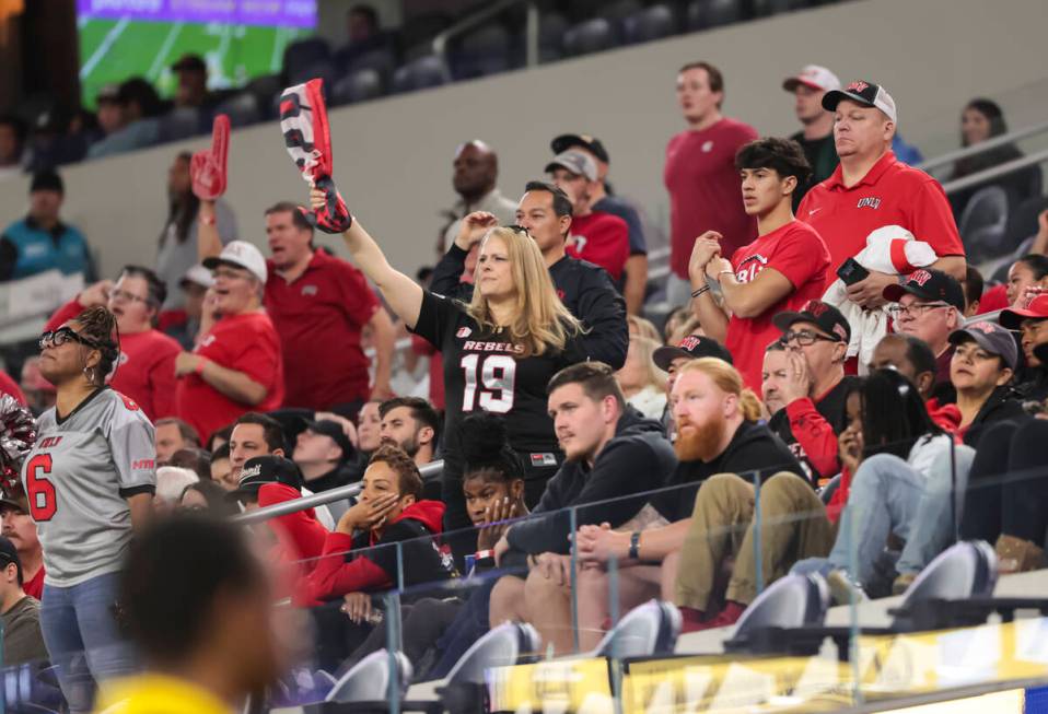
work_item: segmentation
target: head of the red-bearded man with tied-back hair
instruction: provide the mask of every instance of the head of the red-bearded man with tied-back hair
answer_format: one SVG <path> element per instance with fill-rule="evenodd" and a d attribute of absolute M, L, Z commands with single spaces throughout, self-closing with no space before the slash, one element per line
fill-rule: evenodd
<path fill-rule="evenodd" d="M 744 421 L 760 418 L 756 395 L 723 360 L 700 358 L 682 365 L 669 396 L 677 425 L 673 447 L 682 461 L 712 461 Z"/>

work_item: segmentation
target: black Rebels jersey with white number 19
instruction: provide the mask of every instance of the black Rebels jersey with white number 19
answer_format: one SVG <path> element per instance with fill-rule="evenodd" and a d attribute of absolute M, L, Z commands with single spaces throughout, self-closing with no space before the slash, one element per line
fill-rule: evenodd
<path fill-rule="evenodd" d="M 563 351 L 522 356 L 501 330 L 485 330 L 462 303 L 429 291 L 412 330 L 444 358 L 444 477 L 442 496 L 450 528 L 468 525 L 462 493 L 462 448 L 458 433 L 464 414 L 484 410 L 504 414 L 510 445 L 522 453 L 557 453 L 554 422 L 547 411 L 546 385 L 563 367 L 583 362 L 579 338 Z"/>

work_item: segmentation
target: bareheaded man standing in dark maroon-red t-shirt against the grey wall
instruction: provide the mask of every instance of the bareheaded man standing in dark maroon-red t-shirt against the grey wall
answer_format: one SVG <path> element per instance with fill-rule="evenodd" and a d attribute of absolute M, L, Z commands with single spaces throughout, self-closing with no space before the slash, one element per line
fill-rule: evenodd
<path fill-rule="evenodd" d="M 688 128 L 666 144 L 663 180 L 669 192 L 667 297 L 688 302 L 688 258 L 705 231 L 724 236 L 725 256 L 757 237 L 757 223 L 738 201 L 735 153 L 758 137 L 749 125 L 721 115 L 724 78 L 708 62 L 685 65 L 677 73 L 677 102 Z"/>

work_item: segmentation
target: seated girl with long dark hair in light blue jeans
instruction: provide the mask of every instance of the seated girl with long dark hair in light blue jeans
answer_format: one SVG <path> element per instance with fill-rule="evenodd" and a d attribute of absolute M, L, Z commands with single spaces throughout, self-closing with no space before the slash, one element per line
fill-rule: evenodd
<path fill-rule="evenodd" d="M 871 373 L 847 405 L 841 484 L 829 506 L 830 514 L 843 506 L 837 539 L 826 560 L 802 561 L 794 571 L 839 571 L 836 582 L 858 583 L 876 597 L 892 590 L 894 571 L 905 574 L 898 586 L 908 585 L 950 545 L 950 495 L 966 480 L 975 449 L 935 425 L 917 387 L 895 370 Z M 906 542 L 897 564 L 886 547 L 893 535 Z"/>

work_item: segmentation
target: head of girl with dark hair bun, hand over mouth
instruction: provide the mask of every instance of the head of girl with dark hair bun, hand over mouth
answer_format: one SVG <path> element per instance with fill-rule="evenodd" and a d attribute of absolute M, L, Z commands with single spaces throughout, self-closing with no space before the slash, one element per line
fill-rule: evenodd
<path fill-rule="evenodd" d="M 499 414 L 476 411 L 463 420 L 462 478 L 466 511 L 473 524 L 490 522 L 490 516 L 506 512 L 506 517 L 523 515 L 524 465 L 510 448 L 505 422 Z"/>

